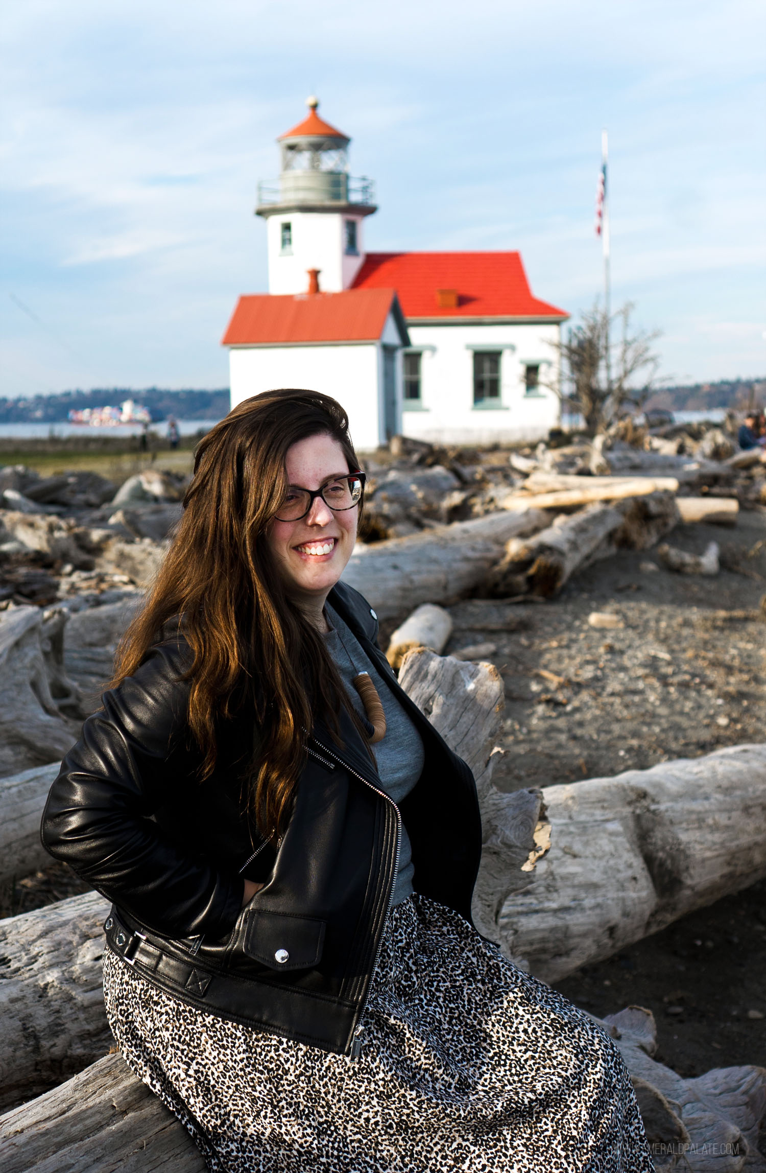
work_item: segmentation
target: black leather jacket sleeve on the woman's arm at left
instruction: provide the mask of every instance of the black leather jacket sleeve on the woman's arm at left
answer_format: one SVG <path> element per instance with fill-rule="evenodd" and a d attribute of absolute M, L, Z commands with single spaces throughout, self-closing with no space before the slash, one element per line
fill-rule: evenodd
<path fill-rule="evenodd" d="M 41 838 L 55 859 L 156 931 L 223 937 L 239 915 L 243 880 L 184 854 L 151 820 L 169 796 L 199 785 L 184 658 L 177 644 L 160 645 L 104 693 L 50 788 Z"/>

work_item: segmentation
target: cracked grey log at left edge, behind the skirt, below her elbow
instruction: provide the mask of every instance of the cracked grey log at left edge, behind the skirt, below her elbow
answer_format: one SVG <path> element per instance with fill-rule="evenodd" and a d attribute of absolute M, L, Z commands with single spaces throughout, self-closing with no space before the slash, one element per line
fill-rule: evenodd
<path fill-rule="evenodd" d="M 101 991 L 108 910 L 103 896 L 87 893 L 0 921 L 1 1108 L 61 1083 L 109 1046 Z"/>

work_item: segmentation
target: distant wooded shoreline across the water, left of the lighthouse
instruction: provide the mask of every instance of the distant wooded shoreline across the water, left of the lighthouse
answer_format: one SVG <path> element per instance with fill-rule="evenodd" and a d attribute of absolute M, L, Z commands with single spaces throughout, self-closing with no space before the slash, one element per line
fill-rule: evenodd
<path fill-rule="evenodd" d="M 151 419 L 157 422 L 167 420 L 169 415 L 177 420 L 219 420 L 230 406 L 228 387 L 218 391 L 101 387 L 94 391 L 62 391 L 30 399 L 0 398 L 0 423 L 62 423 L 73 408 L 82 411 L 84 407 L 118 407 L 126 399 L 147 407 Z"/>

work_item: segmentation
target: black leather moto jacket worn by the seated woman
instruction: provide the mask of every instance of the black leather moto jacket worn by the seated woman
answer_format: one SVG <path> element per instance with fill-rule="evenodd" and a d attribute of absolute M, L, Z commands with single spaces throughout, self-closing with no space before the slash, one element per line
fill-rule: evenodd
<path fill-rule="evenodd" d="M 63 760 L 42 842 L 114 902 L 110 948 L 201 1010 L 327 1051 L 354 1053 L 396 872 L 400 823 L 414 887 L 470 920 L 481 819 L 468 766 L 399 687 L 378 621 L 340 583 L 346 621 L 422 737 L 420 781 L 398 808 L 352 723 L 343 750 L 312 731 L 290 822 L 277 847 L 243 815 L 245 716 L 219 735 L 215 774 L 195 780 L 185 719 L 189 650 L 152 649 L 107 692 Z M 242 908 L 243 876 L 264 887 Z"/>

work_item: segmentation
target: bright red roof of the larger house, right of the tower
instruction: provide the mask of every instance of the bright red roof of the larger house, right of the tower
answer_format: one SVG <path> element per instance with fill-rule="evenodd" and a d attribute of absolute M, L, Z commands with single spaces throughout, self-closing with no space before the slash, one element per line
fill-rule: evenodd
<path fill-rule="evenodd" d="M 368 252 L 353 287 L 395 289 L 407 321 L 569 317 L 533 297 L 518 252 Z"/>

